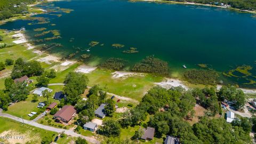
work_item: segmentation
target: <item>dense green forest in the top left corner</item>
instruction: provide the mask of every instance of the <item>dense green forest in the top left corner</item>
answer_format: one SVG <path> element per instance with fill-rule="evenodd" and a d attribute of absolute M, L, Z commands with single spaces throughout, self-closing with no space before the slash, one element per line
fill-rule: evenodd
<path fill-rule="evenodd" d="M 13 17 L 14 14 L 27 13 L 27 4 L 34 3 L 36 0 L 1 0 L 0 1 L 0 20 Z"/>

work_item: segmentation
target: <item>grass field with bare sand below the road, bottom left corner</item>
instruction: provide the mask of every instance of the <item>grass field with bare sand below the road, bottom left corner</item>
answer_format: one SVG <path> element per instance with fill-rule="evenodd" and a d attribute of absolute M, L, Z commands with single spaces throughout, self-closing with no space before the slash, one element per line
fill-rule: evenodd
<path fill-rule="evenodd" d="M 3 140 L 0 139 L 1 142 L 5 143 L 41 143 L 42 138 L 44 137 L 52 137 L 52 140 L 58 135 L 56 132 L 46 131 L 43 129 L 39 129 L 34 126 L 22 124 L 16 121 L 13 121 L 9 118 L 0 117 L 0 136 L 14 136 L 19 135 L 23 136 L 24 139 L 10 139 Z M 69 143 L 75 138 L 68 137 L 65 135 L 64 138 L 59 138 L 57 143 Z"/>

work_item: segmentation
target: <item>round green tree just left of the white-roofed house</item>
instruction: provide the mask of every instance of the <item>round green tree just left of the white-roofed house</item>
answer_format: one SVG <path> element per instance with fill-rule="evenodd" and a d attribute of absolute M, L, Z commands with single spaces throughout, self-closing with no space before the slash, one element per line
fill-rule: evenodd
<path fill-rule="evenodd" d="M 26 100 L 28 98 L 28 87 L 23 83 L 13 84 L 10 88 L 9 97 L 14 102 Z"/>

